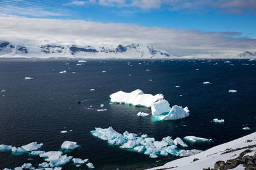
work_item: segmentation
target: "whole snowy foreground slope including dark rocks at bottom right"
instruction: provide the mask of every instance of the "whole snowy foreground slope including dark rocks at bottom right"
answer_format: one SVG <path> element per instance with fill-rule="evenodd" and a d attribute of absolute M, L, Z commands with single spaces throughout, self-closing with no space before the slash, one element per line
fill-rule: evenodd
<path fill-rule="evenodd" d="M 246 152 L 244 152 L 246 151 Z M 240 154 L 240 155 L 239 155 Z M 198 170 L 210 167 L 210 169 L 220 169 L 225 166 L 226 169 L 245 169 L 244 166 L 256 167 L 256 132 L 244 136 L 243 138 L 214 146 L 205 152 L 180 158 L 164 164 L 164 166 L 154 167 L 150 170 L 175 169 L 175 170 Z M 251 161 L 251 159 L 253 159 Z M 221 162 L 221 161 L 223 162 Z M 250 165 L 252 164 L 252 165 Z M 253 165 L 254 164 L 254 165 Z"/>

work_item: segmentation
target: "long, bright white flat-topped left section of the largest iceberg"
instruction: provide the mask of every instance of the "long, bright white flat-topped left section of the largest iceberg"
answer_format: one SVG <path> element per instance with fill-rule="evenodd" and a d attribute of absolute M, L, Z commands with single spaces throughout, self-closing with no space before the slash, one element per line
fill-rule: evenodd
<path fill-rule="evenodd" d="M 111 99 L 110 101 L 113 103 L 132 104 L 134 106 L 145 106 L 148 108 L 151 104 L 164 98 L 163 94 L 156 94 L 153 96 L 152 94 L 144 94 L 142 90 L 138 89 L 131 93 L 119 91 L 111 94 L 109 97 Z"/>

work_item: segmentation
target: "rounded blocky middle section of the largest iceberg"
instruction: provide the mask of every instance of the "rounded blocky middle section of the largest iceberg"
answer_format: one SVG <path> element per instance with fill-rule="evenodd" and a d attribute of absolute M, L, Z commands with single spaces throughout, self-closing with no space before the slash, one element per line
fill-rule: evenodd
<path fill-rule="evenodd" d="M 170 104 L 164 99 L 151 104 L 151 113 L 153 116 L 161 115 L 162 113 L 169 112 L 170 110 Z"/>

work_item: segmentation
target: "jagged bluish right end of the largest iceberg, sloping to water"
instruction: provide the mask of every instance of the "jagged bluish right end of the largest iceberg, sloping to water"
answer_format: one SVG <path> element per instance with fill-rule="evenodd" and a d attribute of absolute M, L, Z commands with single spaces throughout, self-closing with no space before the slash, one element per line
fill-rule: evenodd
<path fill-rule="evenodd" d="M 168 113 L 168 115 L 163 115 L 160 118 L 160 120 L 177 120 L 180 118 L 185 118 L 189 116 L 189 110 L 188 107 L 182 108 L 180 106 L 174 105 L 172 106 L 172 109 Z"/>

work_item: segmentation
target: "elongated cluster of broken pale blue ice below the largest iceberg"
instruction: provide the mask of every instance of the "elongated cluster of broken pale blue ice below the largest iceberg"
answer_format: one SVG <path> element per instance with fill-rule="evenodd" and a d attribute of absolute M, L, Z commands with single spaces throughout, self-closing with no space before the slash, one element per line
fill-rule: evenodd
<path fill-rule="evenodd" d="M 127 131 L 120 134 L 112 127 L 107 129 L 95 127 L 95 130 L 91 131 L 91 133 L 97 138 L 108 141 L 109 145 L 117 145 L 122 149 L 144 153 L 150 158 L 157 158 L 159 155 L 184 157 L 201 152 L 200 150 L 179 149 L 178 146 L 186 148 L 188 145 L 186 145 L 182 139 L 176 138 L 173 140 L 170 136 L 163 138 L 161 141 L 155 141 L 154 138 L 148 138 L 147 134 L 138 136 L 137 134 L 129 133 Z"/>

